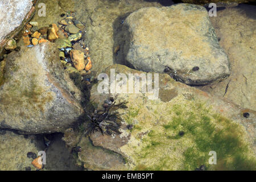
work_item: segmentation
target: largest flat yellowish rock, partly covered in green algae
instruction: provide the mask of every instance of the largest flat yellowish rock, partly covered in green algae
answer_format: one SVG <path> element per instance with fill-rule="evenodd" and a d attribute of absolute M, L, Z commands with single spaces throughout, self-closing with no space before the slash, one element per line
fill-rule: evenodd
<path fill-rule="evenodd" d="M 109 78 L 111 69 L 115 76 L 144 73 L 115 64 L 105 71 Z M 98 105 L 98 110 L 109 97 L 114 97 L 116 104 L 128 102 L 127 109 L 117 110 L 122 118 L 122 134 L 92 133 L 94 150 L 103 147 L 122 155 L 126 162 L 123 169 L 195 170 L 204 165 L 207 170 L 255 170 L 255 111 L 176 82 L 167 74 L 153 76 L 155 86 L 155 79 L 159 81 L 159 94 L 154 100 L 148 97 L 151 93 L 143 93 L 141 88 L 138 93 L 117 93 L 115 89 L 111 94 L 99 92 L 101 81 L 92 87 L 90 100 Z M 129 81 L 119 78 L 115 84 L 129 88 Z M 245 111 L 250 113 L 249 118 L 243 117 Z M 82 141 L 86 140 L 82 136 Z M 80 142 L 79 146 L 86 144 Z M 210 151 L 216 152 L 217 164 L 209 164 Z M 92 160 L 101 155 L 92 157 L 92 153 L 96 154 L 79 154 L 77 161 L 98 169 L 102 162 L 93 166 Z M 105 160 L 104 164 L 110 159 Z"/>

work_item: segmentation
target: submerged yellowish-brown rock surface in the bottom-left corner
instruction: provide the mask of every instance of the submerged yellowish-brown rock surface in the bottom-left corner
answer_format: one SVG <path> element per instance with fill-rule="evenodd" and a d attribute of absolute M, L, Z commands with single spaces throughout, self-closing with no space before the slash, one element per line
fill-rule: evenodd
<path fill-rule="evenodd" d="M 1 171 L 23 171 L 26 167 L 35 170 L 32 166 L 32 158 L 27 158 L 27 153 L 37 154 L 35 143 L 31 143 L 31 137 L 24 138 L 23 135 L 6 131 L 0 135 L 0 170 Z"/>

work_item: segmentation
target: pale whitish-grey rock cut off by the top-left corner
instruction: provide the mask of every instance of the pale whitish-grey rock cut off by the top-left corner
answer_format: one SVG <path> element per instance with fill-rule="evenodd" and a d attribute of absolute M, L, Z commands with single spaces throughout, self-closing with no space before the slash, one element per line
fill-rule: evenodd
<path fill-rule="evenodd" d="M 0 1 L 0 47 L 7 41 L 5 37 L 14 36 L 34 10 L 32 0 Z"/>

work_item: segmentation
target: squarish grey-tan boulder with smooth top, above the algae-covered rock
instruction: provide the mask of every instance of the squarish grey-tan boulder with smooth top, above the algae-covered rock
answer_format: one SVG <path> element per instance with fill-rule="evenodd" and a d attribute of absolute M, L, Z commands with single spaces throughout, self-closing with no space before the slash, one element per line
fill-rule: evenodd
<path fill-rule="evenodd" d="M 163 73 L 169 67 L 174 78 L 189 85 L 209 84 L 230 74 L 228 56 L 203 6 L 143 8 L 124 24 L 123 56 L 135 69 Z"/>

